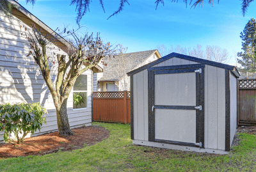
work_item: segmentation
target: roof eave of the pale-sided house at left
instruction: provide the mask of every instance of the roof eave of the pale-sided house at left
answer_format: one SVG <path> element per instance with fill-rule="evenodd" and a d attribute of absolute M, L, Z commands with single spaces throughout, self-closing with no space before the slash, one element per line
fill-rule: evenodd
<path fill-rule="evenodd" d="M 13 0 L 8 0 L 8 1 L 15 6 L 15 8 L 13 9 L 12 15 L 14 15 L 18 19 L 22 20 L 22 22 L 24 22 L 25 24 L 30 26 L 31 21 L 32 21 L 32 22 L 34 22 L 35 25 L 41 27 L 47 33 L 49 33 L 51 35 L 52 34 L 58 35 L 58 33 L 56 33 L 49 26 L 44 24 L 44 22 L 42 22 L 37 17 L 35 17 L 35 15 L 30 13 L 28 10 L 26 10 L 26 8 L 24 8 L 21 4 L 17 3 L 17 1 L 13 1 Z M 29 21 L 26 18 L 30 19 L 31 21 Z M 65 47 L 70 45 L 70 43 L 68 43 L 67 40 L 62 38 L 60 35 L 58 35 L 58 40 L 59 40 L 59 42 L 55 42 L 54 44 L 56 44 L 56 46 L 58 46 L 60 49 L 65 49 Z M 93 72 L 102 72 L 103 71 L 102 68 L 98 65 L 94 66 L 92 68 L 92 70 L 93 70 Z"/>

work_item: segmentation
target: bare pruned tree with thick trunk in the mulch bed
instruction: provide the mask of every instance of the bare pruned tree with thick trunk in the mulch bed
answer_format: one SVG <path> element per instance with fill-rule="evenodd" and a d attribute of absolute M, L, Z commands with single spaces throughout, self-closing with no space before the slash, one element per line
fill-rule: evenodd
<path fill-rule="evenodd" d="M 47 54 L 48 45 L 54 42 L 58 35 L 54 38 L 52 38 L 52 34 L 45 35 L 42 33 L 42 29 L 37 29 L 35 25 L 26 34 L 30 47 L 28 56 L 32 54 L 51 92 L 56 108 L 58 131 L 61 135 L 74 134 L 68 123 L 67 100 L 77 77 L 97 65 L 102 58 L 113 55 L 111 45 L 103 43 L 99 33 L 95 37 L 88 33 L 83 37 L 77 36 L 75 32 L 68 31 L 67 33 L 73 38 L 65 50 L 68 54 L 67 57 L 59 54 L 54 54 L 52 57 L 51 54 Z M 55 84 L 51 77 L 54 67 L 57 76 Z"/>

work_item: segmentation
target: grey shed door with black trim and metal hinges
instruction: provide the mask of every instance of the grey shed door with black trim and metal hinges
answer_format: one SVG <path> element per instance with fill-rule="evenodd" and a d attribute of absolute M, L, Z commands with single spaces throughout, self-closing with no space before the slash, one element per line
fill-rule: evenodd
<path fill-rule="evenodd" d="M 204 65 L 148 68 L 148 139 L 204 148 Z"/>

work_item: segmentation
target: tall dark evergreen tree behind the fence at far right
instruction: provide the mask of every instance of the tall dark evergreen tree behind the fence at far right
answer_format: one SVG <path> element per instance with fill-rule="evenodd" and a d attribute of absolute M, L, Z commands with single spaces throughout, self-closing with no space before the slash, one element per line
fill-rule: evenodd
<path fill-rule="evenodd" d="M 244 27 L 243 32 L 240 33 L 242 39 L 242 49 L 244 52 L 238 52 L 237 62 L 241 65 L 241 72 L 255 72 L 256 71 L 256 22 L 255 19 L 248 21 Z"/>

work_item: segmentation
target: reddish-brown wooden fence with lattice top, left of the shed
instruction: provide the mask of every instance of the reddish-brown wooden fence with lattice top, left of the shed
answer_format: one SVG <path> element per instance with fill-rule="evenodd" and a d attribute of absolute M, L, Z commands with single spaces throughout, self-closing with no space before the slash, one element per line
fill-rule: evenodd
<path fill-rule="evenodd" d="M 93 120 L 131 123 L 130 91 L 93 92 Z"/>

